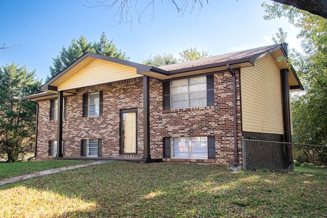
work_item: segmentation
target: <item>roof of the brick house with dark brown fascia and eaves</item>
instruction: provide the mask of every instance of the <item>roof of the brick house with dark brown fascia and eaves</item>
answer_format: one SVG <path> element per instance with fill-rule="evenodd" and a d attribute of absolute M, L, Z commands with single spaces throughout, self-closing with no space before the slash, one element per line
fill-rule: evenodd
<path fill-rule="evenodd" d="M 67 68 L 62 70 L 58 75 L 50 79 L 44 85 L 40 87 L 40 90 L 45 93 L 39 93 L 36 95 L 31 95 L 31 98 L 26 97 L 25 99 L 43 99 L 50 98 L 53 94 L 58 92 L 58 86 L 63 82 L 67 81 L 69 78 L 72 78 L 74 75 L 78 74 L 82 69 L 91 64 L 95 60 L 102 60 L 106 63 L 114 63 L 116 65 L 121 65 L 125 67 L 129 67 L 129 69 L 133 69 L 135 72 L 131 76 L 131 78 L 148 76 L 158 80 L 169 80 L 178 77 L 205 74 L 207 72 L 226 70 L 227 65 L 230 68 L 241 68 L 254 66 L 255 61 L 259 58 L 271 54 L 274 59 L 277 57 L 287 57 L 287 51 L 284 48 L 285 44 L 273 44 L 268 46 L 262 46 L 255 49 L 249 49 L 239 52 L 233 52 L 224 55 L 212 56 L 208 58 L 181 62 L 176 64 L 170 64 L 166 66 L 150 66 L 145 64 L 138 64 L 126 60 L 120 60 L 108 56 L 98 55 L 94 53 L 85 53 L 80 58 L 78 58 L 75 62 L 69 65 Z M 291 77 L 292 81 L 294 81 L 293 85 L 290 85 L 291 89 L 294 90 L 303 90 L 303 87 L 296 75 L 293 67 L 289 66 L 287 62 L 276 62 L 279 68 L 290 68 L 292 72 Z M 107 74 L 110 74 L 108 72 Z M 110 76 L 110 75 L 109 75 Z M 122 78 L 120 78 L 122 80 Z M 126 78 L 125 78 L 126 79 Z M 86 82 L 86 81 L 85 81 Z M 104 83 L 106 81 L 103 81 Z M 87 86 L 87 85 L 85 85 Z M 72 87 L 71 87 L 72 88 Z M 75 87 L 73 89 L 65 89 L 64 91 L 67 94 L 72 94 L 76 91 Z M 46 94 L 52 93 L 52 94 Z"/>

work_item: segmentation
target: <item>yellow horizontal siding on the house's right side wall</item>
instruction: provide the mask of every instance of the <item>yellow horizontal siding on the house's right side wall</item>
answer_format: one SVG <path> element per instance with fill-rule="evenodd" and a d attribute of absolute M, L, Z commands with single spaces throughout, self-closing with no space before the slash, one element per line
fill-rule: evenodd
<path fill-rule="evenodd" d="M 284 134 L 281 74 L 273 58 L 241 68 L 241 86 L 243 131 Z"/>

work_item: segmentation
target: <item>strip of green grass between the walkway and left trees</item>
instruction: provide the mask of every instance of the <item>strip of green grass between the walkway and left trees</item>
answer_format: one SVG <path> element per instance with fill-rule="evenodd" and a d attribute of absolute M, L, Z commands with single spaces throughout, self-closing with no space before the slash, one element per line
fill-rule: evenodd
<path fill-rule="evenodd" d="M 83 160 L 49 160 L 49 161 L 22 161 L 14 163 L 0 163 L 0 180 L 25 174 L 45 171 L 47 169 L 86 163 Z"/>

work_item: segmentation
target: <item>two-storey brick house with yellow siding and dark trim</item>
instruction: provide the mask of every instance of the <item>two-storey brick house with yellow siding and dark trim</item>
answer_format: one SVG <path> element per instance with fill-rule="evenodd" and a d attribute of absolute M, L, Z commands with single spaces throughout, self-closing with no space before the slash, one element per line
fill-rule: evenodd
<path fill-rule="evenodd" d="M 242 163 L 242 136 L 291 141 L 287 44 L 162 67 L 85 53 L 25 99 L 36 158 Z"/>

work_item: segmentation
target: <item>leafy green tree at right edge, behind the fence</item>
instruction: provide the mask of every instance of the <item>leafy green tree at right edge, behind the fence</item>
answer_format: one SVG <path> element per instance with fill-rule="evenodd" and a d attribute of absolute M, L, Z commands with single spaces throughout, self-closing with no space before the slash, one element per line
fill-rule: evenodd
<path fill-rule="evenodd" d="M 265 19 L 284 16 L 301 29 L 304 54 L 295 53 L 292 62 L 305 92 L 292 96 L 293 141 L 327 145 L 327 19 L 277 3 L 263 6 Z"/>

